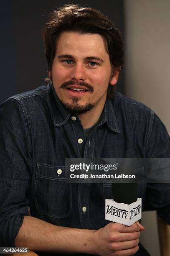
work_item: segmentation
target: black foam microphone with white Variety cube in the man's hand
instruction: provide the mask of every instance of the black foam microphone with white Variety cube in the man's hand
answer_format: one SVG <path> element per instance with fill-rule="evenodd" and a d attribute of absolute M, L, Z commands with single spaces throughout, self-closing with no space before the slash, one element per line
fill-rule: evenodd
<path fill-rule="evenodd" d="M 131 226 L 142 218 L 137 183 L 112 183 L 113 199 L 106 199 L 105 219 Z"/>

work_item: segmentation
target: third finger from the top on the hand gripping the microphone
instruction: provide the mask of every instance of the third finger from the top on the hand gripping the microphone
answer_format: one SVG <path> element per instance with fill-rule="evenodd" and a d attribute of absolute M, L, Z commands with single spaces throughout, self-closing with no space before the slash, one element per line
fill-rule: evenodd
<path fill-rule="evenodd" d="M 120 251 L 120 250 L 127 250 L 130 248 L 134 248 L 138 245 L 139 238 L 132 241 L 125 241 L 125 242 L 112 242 L 109 243 L 108 247 L 111 250 Z"/>

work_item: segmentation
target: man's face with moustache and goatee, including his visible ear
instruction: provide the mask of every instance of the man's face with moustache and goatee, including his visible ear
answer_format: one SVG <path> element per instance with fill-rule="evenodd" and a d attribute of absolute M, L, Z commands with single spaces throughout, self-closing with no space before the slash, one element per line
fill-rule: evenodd
<path fill-rule="evenodd" d="M 104 106 L 109 83 L 114 85 L 109 54 L 99 34 L 63 32 L 52 65 L 56 94 L 71 112 L 81 114 Z"/>

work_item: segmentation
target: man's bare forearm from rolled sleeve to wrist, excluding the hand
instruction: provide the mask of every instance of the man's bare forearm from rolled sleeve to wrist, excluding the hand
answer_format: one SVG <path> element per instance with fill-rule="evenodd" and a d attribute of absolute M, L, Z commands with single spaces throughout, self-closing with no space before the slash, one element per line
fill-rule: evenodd
<path fill-rule="evenodd" d="M 15 238 L 16 247 L 29 247 L 34 251 L 94 253 L 94 230 L 66 228 L 43 220 L 25 216 Z"/>

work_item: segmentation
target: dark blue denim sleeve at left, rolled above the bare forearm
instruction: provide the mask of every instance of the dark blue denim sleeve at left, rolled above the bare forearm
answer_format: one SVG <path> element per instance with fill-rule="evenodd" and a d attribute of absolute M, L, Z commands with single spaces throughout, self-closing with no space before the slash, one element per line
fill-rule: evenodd
<path fill-rule="evenodd" d="M 29 214 L 32 146 L 29 120 L 22 102 L 0 105 L 0 247 L 15 246 L 15 237 Z"/>

